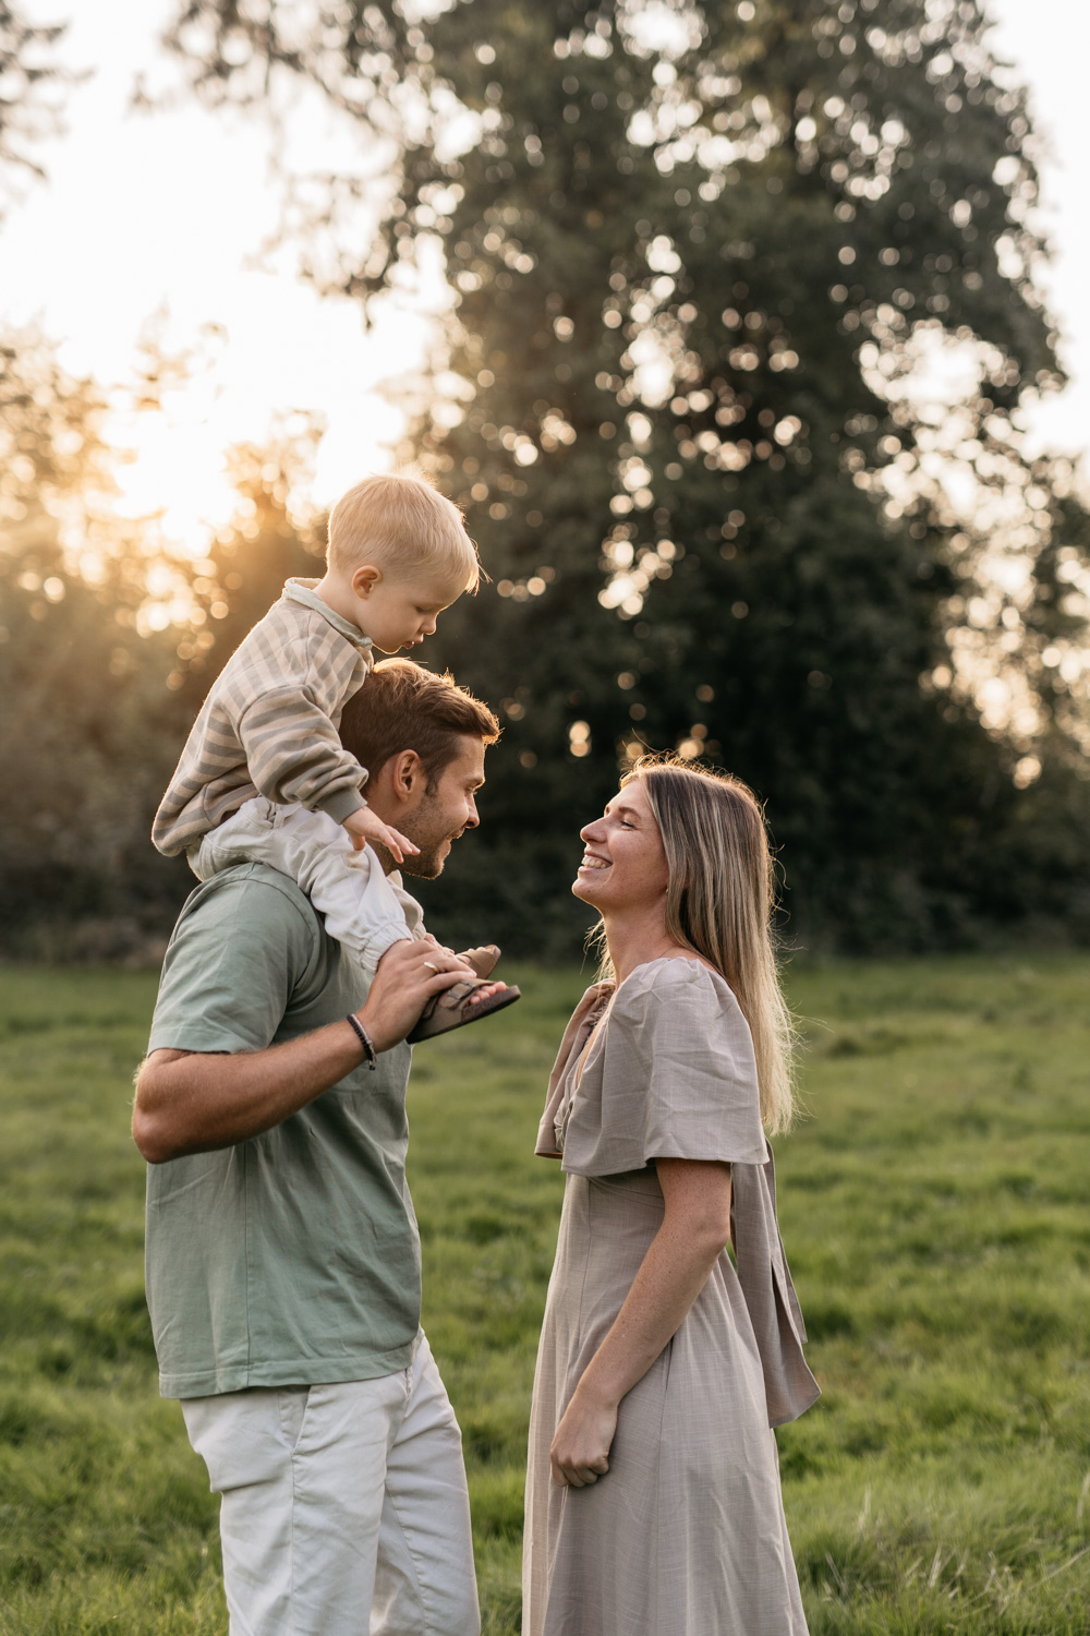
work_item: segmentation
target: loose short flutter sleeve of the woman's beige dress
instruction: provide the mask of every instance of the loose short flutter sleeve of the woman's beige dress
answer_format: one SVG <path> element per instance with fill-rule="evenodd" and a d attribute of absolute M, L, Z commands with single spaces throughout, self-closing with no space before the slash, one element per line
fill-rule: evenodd
<path fill-rule="evenodd" d="M 637 967 L 590 1044 L 562 1168 L 610 1176 L 655 1158 L 765 1157 L 753 1040 L 729 985 L 699 960 Z"/>

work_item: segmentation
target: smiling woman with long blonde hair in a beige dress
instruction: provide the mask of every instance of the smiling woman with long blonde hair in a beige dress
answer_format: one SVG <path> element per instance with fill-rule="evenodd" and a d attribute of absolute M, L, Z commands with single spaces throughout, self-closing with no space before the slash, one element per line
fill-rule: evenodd
<path fill-rule="evenodd" d="M 523 1631 L 804 1636 L 770 1427 L 819 1394 L 762 1129 L 791 1119 L 763 818 L 735 779 L 649 759 L 582 839 L 572 890 L 601 915 L 608 980 L 569 1022 L 538 1135 L 567 1188 Z"/>

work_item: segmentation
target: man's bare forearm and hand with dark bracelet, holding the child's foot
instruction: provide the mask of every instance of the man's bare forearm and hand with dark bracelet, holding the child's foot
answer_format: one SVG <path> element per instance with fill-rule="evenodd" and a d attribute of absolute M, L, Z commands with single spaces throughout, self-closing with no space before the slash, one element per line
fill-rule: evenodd
<path fill-rule="evenodd" d="M 472 973 L 431 939 L 394 944 L 356 1013 L 374 1049 L 402 1040 L 425 1001 L 466 975 Z M 136 1080 L 132 1139 L 152 1165 L 234 1147 L 306 1108 L 358 1068 L 360 1057 L 350 1022 L 330 1022 L 268 1050 L 154 1050 Z"/>

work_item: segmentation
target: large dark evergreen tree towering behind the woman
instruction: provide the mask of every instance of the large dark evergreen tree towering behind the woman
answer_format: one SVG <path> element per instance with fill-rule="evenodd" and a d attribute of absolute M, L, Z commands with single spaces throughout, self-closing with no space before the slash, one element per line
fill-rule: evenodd
<path fill-rule="evenodd" d="M 345 290 L 376 296 L 443 244 L 441 363 L 466 401 L 461 419 L 433 401 L 415 450 L 498 597 L 448 614 L 438 648 L 507 718 L 474 893 L 515 919 L 529 885 L 544 915 L 575 820 L 642 739 L 760 790 L 797 926 L 928 942 L 1061 906 L 1085 872 L 1079 802 L 1034 867 L 1012 836 L 1041 789 L 1016 789 L 1025 744 L 984 730 L 966 674 L 1010 609 L 1003 663 L 1039 684 L 1056 566 L 1085 543 L 1012 427 L 1059 375 L 1025 101 L 972 0 L 471 0 L 413 21 L 191 0 L 173 44 L 212 97 L 302 75 L 397 141 Z M 451 92 L 479 121 L 458 157 Z M 941 422 L 904 389 L 951 345 L 977 368 L 958 460 L 1023 512 L 1044 492 L 1013 600 L 946 499 Z M 951 625 L 976 649 L 951 653 Z M 1018 870 L 997 870 L 1010 847 Z"/>

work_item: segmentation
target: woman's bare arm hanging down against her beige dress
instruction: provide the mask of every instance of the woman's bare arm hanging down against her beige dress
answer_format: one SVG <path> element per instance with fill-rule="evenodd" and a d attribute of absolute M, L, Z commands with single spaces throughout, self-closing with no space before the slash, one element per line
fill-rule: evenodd
<path fill-rule="evenodd" d="M 621 1399 L 678 1332 L 730 1237 L 729 1165 L 660 1158 L 657 1170 L 662 1227 L 552 1438 L 552 1481 L 561 1487 L 582 1489 L 610 1469 Z"/>

